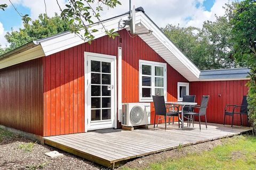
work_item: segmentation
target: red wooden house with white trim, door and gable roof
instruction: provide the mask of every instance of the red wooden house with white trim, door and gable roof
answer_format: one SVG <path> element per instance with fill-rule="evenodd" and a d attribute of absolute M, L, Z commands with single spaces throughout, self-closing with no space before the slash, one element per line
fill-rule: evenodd
<path fill-rule="evenodd" d="M 128 15 L 103 21 L 115 39 L 94 24 L 100 31 L 91 45 L 65 32 L 0 56 L 0 124 L 42 137 L 120 128 L 122 103 L 139 102 L 151 103 L 153 123 L 151 96 L 176 101 L 181 93 L 197 103 L 210 95 L 207 121 L 222 123 L 225 105 L 241 103 L 247 69 L 200 71 L 142 8 L 136 31 L 150 34 L 119 28 Z"/>

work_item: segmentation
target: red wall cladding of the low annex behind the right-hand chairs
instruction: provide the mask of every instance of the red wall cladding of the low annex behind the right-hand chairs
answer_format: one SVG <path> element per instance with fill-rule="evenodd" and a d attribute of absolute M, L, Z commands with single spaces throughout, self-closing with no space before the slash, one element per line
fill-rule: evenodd
<path fill-rule="evenodd" d="M 246 82 L 247 80 L 190 82 L 190 95 L 196 95 L 198 104 L 201 103 L 203 95 L 210 95 L 206 112 L 207 122 L 222 124 L 225 106 L 241 105 L 243 96 L 247 95 Z M 242 118 L 244 125 L 247 125 L 246 117 Z M 202 120 L 205 121 L 203 116 Z M 231 116 L 226 117 L 226 124 L 231 124 Z M 240 125 L 239 115 L 234 116 L 234 124 Z"/>

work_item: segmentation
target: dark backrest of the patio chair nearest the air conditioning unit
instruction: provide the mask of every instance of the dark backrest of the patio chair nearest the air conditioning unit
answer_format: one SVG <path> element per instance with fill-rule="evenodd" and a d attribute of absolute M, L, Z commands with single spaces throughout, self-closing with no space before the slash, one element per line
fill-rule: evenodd
<path fill-rule="evenodd" d="M 166 115 L 164 96 L 152 96 L 156 115 Z"/>

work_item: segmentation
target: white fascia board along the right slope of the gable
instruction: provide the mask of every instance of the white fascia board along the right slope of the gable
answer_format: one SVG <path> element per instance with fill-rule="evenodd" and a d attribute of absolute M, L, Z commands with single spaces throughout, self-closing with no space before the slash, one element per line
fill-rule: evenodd
<path fill-rule="evenodd" d="M 149 30 L 153 31 L 152 34 L 159 40 L 161 43 L 170 50 L 170 52 L 178 58 L 178 60 L 187 67 L 187 69 L 195 75 L 195 77 L 199 78 L 200 70 L 192 63 L 184 54 L 180 52 L 180 50 L 175 47 L 172 42 L 159 30 L 154 23 L 152 23 L 145 14 L 140 13 L 141 23 Z M 196 80 L 195 80 L 196 81 Z"/>

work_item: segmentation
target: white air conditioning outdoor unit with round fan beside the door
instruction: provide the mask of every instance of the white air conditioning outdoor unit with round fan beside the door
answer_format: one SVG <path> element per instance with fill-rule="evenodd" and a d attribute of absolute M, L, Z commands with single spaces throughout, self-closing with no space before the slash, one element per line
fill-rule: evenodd
<path fill-rule="evenodd" d="M 122 125 L 139 126 L 150 124 L 150 103 L 123 103 Z"/>

